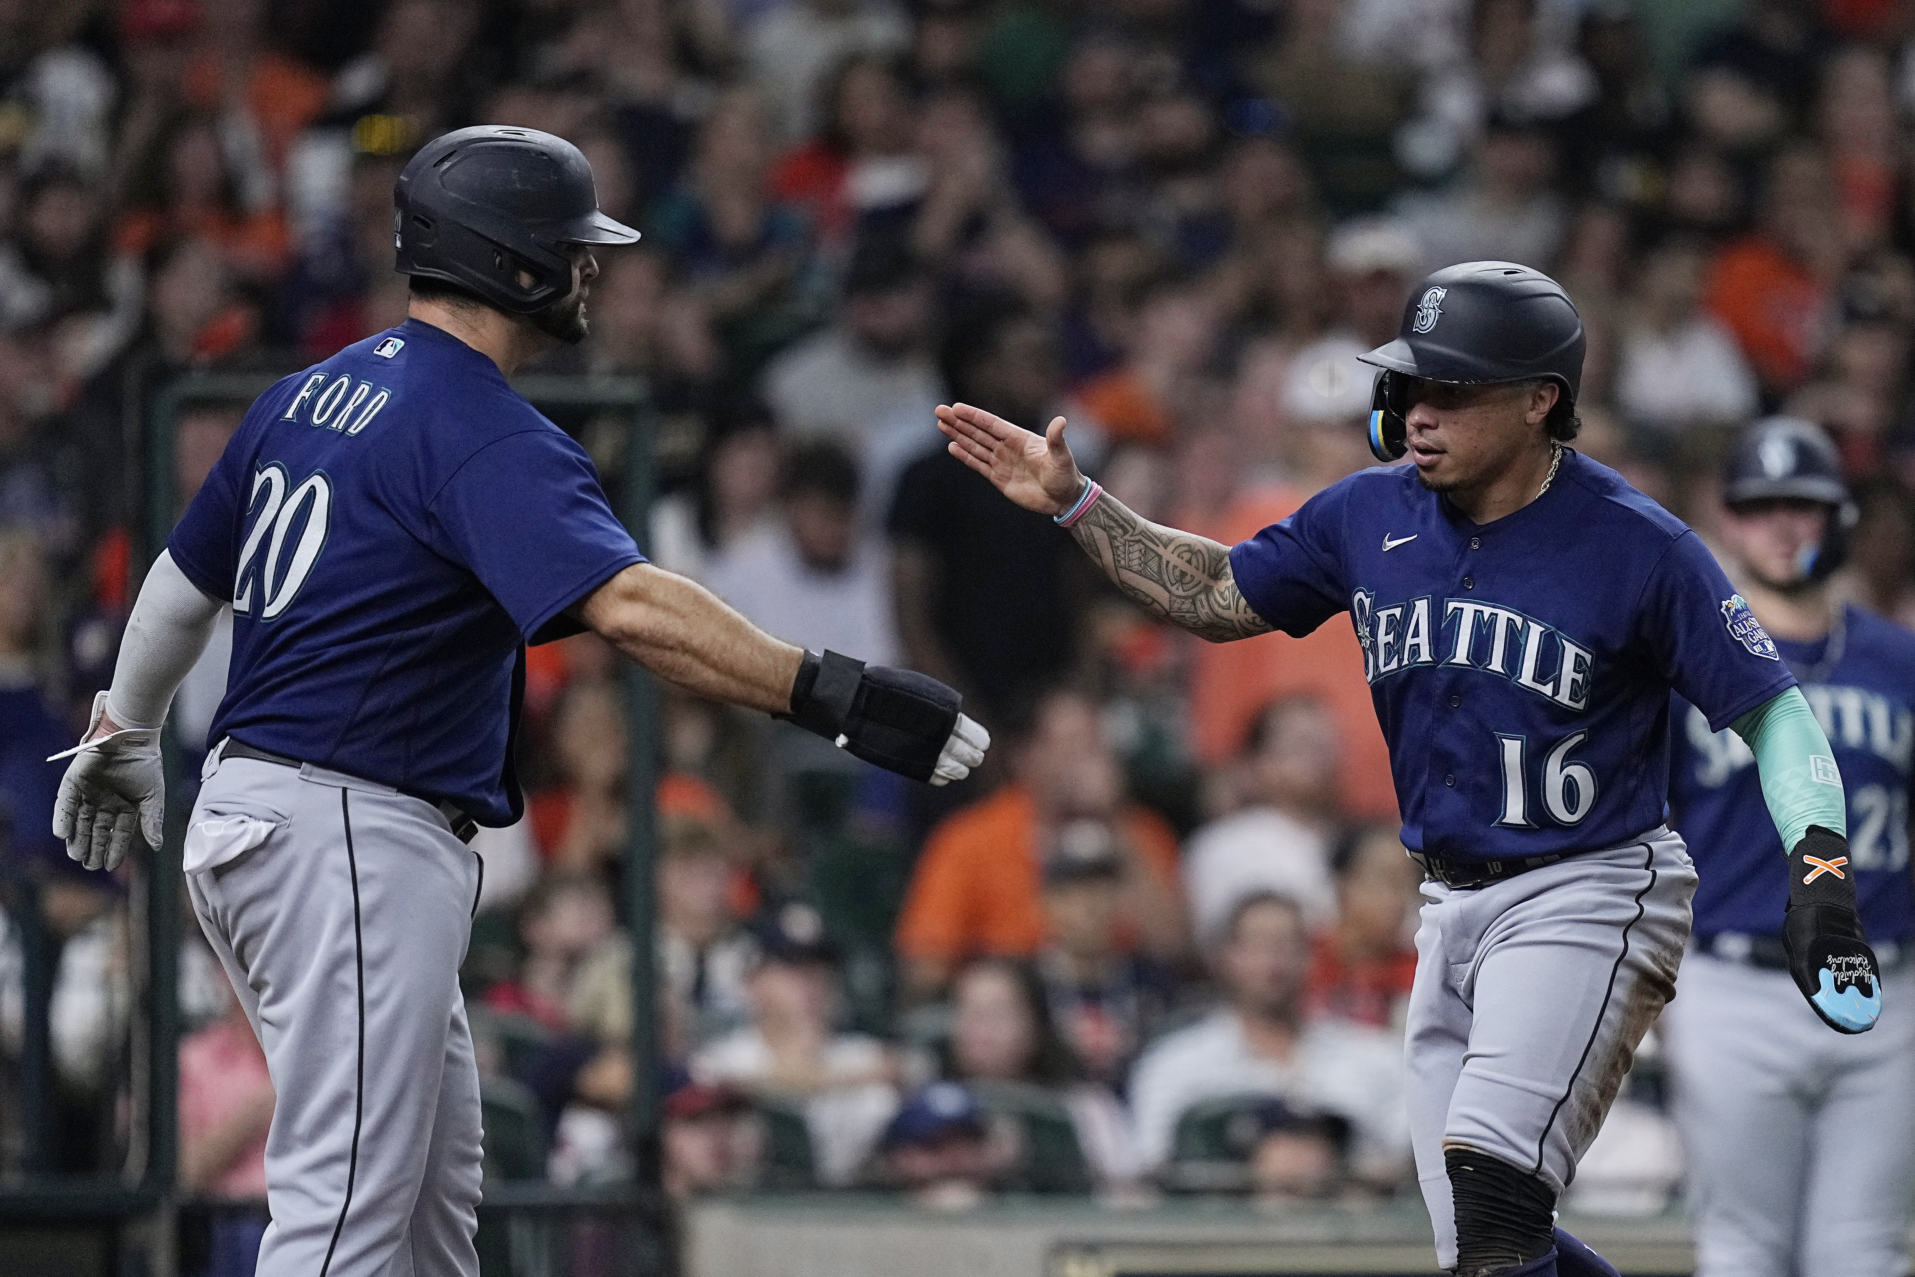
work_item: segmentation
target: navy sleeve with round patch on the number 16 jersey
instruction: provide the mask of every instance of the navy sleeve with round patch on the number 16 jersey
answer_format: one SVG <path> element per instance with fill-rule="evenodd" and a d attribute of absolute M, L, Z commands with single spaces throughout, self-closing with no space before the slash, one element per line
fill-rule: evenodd
<path fill-rule="evenodd" d="M 1643 588 L 1643 641 L 1712 731 L 1794 685 L 1762 622 L 1695 532 L 1670 542 Z"/>

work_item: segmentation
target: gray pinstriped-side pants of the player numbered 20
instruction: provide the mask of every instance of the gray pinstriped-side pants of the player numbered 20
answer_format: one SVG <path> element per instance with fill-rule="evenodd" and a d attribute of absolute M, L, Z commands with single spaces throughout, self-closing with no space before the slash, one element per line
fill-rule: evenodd
<path fill-rule="evenodd" d="M 458 969 L 479 858 L 326 768 L 209 760 L 188 892 L 266 1051 L 260 1277 L 475 1277 L 481 1128 Z"/>

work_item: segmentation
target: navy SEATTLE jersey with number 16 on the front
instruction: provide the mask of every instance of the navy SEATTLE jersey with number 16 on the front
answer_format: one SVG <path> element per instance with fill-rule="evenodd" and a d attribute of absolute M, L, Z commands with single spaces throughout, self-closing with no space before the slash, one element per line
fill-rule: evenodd
<path fill-rule="evenodd" d="M 1350 613 L 1419 852 L 1624 842 L 1664 819 L 1670 687 L 1722 728 L 1794 683 L 1701 538 L 1574 450 L 1484 525 L 1411 465 L 1360 471 L 1229 563 L 1285 634 Z"/>

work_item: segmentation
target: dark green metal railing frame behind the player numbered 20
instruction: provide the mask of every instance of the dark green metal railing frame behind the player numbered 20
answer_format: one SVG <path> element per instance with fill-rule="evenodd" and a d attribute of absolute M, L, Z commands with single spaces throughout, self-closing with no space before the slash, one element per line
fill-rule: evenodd
<path fill-rule="evenodd" d="M 180 515 L 182 494 L 174 484 L 174 437 L 184 412 L 195 406 L 245 408 L 260 392 L 274 385 L 278 377 L 264 373 L 192 373 L 165 387 L 153 396 L 142 431 L 140 450 L 140 492 L 142 526 L 136 530 L 134 580 L 138 588 L 146 567 L 159 557 Z M 620 467 L 617 475 L 607 475 L 615 504 L 626 528 L 638 540 L 640 549 L 647 548 L 649 511 L 653 494 L 653 414 L 647 387 L 636 377 L 561 377 L 529 375 L 513 381 L 513 387 L 548 415 L 565 417 L 578 412 L 617 412 L 626 414 L 626 429 L 620 438 Z M 624 907 L 634 936 L 649 936 L 653 930 L 653 854 L 655 819 L 653 791 L 659 777 L 657 760 L 657 687 L 651 676 L 626 666 L 624 705 L 630 733 L 628 768 L 628 810 L 630 835 L 624 848 Z M 178 741 L 167 741 L 169 795 L 174 798 L 186 793 L 178 773 Z M 48 1177 L 33 1174 L 44 1166 L 46 1128 L 40 1120 L 40 1105 L 50 1095 L 54 1078 L 46 1072 L 48 1051 L 44 1047 L 44 1022 L 34 1034 L 29 1024 L 27 1047 L 38 1051 L 38 1063 L 23 1061 L 25 1078 L 23 1101 L 34 1103 L 33 1110 L 21 1110 L 23 1126 L 23 1168 L 27 1177 L 17 1183 L 0 1185 L 0 1252 L 15 1254 L 17 1262 L 31 1264 L 34 1246 L 50 1246 L 57 1267 L 46 1271 L 151 1271 L 170 1273 L 174 1266 L 174 1223 L 180 1210 L 174 1172 L 178 1166 L 178 929 L 180 929 L 180 839 L 184 835 L 186 812 L 174 800 L 169 802 L 165 844 L 151 856 L 138 856 L 132 862 L 128 888 L 130 921 L 130 1101 L 132 1122 L 128 1126 L 126 1158 L 117 1174 Z M 15 909 L 21 909 L 13 902 Z M 50 978 L 50 976 L 48 976 Z M 509 1185 L 488 1193 L 483 1208 L 492 1220 L 521 1220 L 513 1235 L 525 1229 L 544 1227 L 538 1221 L 565 1218 L 567 1214 L 620 1216 L 626 1223 L 657 1223 L 657 1183 L 659 1183 L 659 1103 L 655 1093 L 655 1070 L 643 1064 L 657 1057 L 655 1024 L 655 973 L 653 946 L 632 946 L 632 1059 L 640 1061 L 632 1068 L 632 1101 L 628 1112 L 628 1131 L 638 1170 L 638 1187 L 620 1195 L 567 1195 L 544 1185 Z M 42 1003 L 44 1005 L 44 1003 Z M 33 1007 L 29 1007 L 31 1011 Z M 31 1017 L 29 1017 L 31 1019 Z M 511 1231 L 511 1229 L 507 1229 Z M 550 1229 L 548 1229 L 550 1231 Z M 105 1239 L 100 1246 L 69 1248 L 59 1239 L 90 1237 Z M 19 1246 L 19 1248 L 17 1248 Z M 98 1254 L 94 1254 L 98 1250 Z M 534 1248 L 536 1254 L 548 1250 Z M 643 1250 L 653 1258 L 663 1254 L 659 1246 Z M 61 1258 L 63 1256 L 63 1258 Z M 136 1258 L 144 1256 L 144 1258 Z M 488 1266 L 488 1273 L 494 1266 Z M 507 1271 L 519 1277 L 517 1264 Z M 563 1273 L 550 1262 L 532 1266 L 538 1273 Z M 645 1262 L 642 1267 L 620 1271 L 653 1271 Z M 27 1271 L 27 1269 L 21 1269 Z"/>

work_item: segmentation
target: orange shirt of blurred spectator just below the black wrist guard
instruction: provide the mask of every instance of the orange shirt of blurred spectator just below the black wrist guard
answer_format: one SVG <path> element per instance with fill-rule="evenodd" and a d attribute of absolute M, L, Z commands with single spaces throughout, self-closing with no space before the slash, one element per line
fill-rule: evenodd
<path fill-rule="evenodd" d="M 898 917 L 898 953 L 959 961 L 1030 957 L 1046 940 L 1044 865 L 1030 791 L 1005 785 L 931 831 Z M 1178 837 L 1143 808 L 1124 808 L 1122 835 L 1176 890 Z"/>

